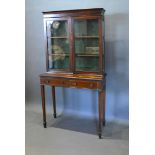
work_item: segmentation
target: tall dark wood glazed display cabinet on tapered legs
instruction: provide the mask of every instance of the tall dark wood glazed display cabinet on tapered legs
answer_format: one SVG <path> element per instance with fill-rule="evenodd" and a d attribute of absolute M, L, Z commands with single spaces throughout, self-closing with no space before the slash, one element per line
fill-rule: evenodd
<path fill-rule="evenodd" d="M 52 87 L 56 118 L 55 87 L 97 89 L 101 138 L 105 124 L 105 50 L 102 8 L 43 12 L 46 73 L 40 75 L 43 120 L 46 127 L 45 90 Z"/>

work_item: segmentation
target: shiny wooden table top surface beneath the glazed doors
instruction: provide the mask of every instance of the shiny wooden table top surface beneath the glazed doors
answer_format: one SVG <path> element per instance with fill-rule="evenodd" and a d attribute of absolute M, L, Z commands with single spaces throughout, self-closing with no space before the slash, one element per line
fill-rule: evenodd
<path fill-rule="evenodd" d="M 41 78 L 67 78 L 67 79 L 86 79 L 86 80 L 103 80 L 104 76 L 99 74 L 73 74 L 67 72 L 50 71 L 40 75 Z"/>

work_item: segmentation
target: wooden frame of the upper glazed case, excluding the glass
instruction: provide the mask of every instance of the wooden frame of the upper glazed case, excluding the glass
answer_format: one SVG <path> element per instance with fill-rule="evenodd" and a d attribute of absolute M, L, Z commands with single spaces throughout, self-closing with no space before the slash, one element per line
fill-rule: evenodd
<path fill-rule="evenodd" d="M 48 63 L 48 38 L 56 38 L 56 39 L 66 39 L 66 36 L 57 36 L 51 37 L 48 36 L 48 24 L 52 21 L 64 21 L 68 22 L 68 32 L 69 32 L 69 69 L 53 69 L 53 70 L 63 70 L 64 72 L 72 72 L 72 73 L 82 73 L 84 71 L 80 71 L 75 69 L 75 49 L 74 42 L 76 39 L 99 39 L 99 70 L 91 71 L 94 74 L 103 74 L 103 36 L 102 36 L 102 18 L 104 14 L 104 9 L 96 8 L 96 9 L 80 9 L 80 10 L 64 10 L 64 11 L 49 11 L 43 12 L 44 15 L 44 38 L 45 38 L 45 48 L 46 48 L 46 70 L 50 71 L 49 63 Z M 62 16 L 61 16 L 62 15 Z M 75 20 L 87 20 L 87 19 L 97 19 L 98 20 L 98 36 L 74 36 L 74 21 Z M 86 71 L 85 71 L 86 72 Z M 87 71 L 89 73 L 90 71 Z"/>

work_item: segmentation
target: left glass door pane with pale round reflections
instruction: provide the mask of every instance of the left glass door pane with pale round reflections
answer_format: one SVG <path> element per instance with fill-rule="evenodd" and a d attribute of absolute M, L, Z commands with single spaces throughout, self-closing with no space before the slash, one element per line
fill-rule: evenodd
<path fill-rule="evenodd" d="M 69 68 L 69 35 L 67 21 L 50 21 L 48 25 L 50 69 Z"/>

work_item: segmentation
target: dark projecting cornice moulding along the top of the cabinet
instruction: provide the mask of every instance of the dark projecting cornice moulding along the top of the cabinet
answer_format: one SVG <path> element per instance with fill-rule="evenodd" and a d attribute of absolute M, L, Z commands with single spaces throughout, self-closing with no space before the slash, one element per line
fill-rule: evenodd
<path fill-rule="evenodd" d="M 100 16 L 105 10 L 103 8 L 92 9 L 76 9 L 76 10 L 61 10 L 61 11 L 46 11 L 42 12 L 44 17 L 64 17 L 64 16 Z"/>

